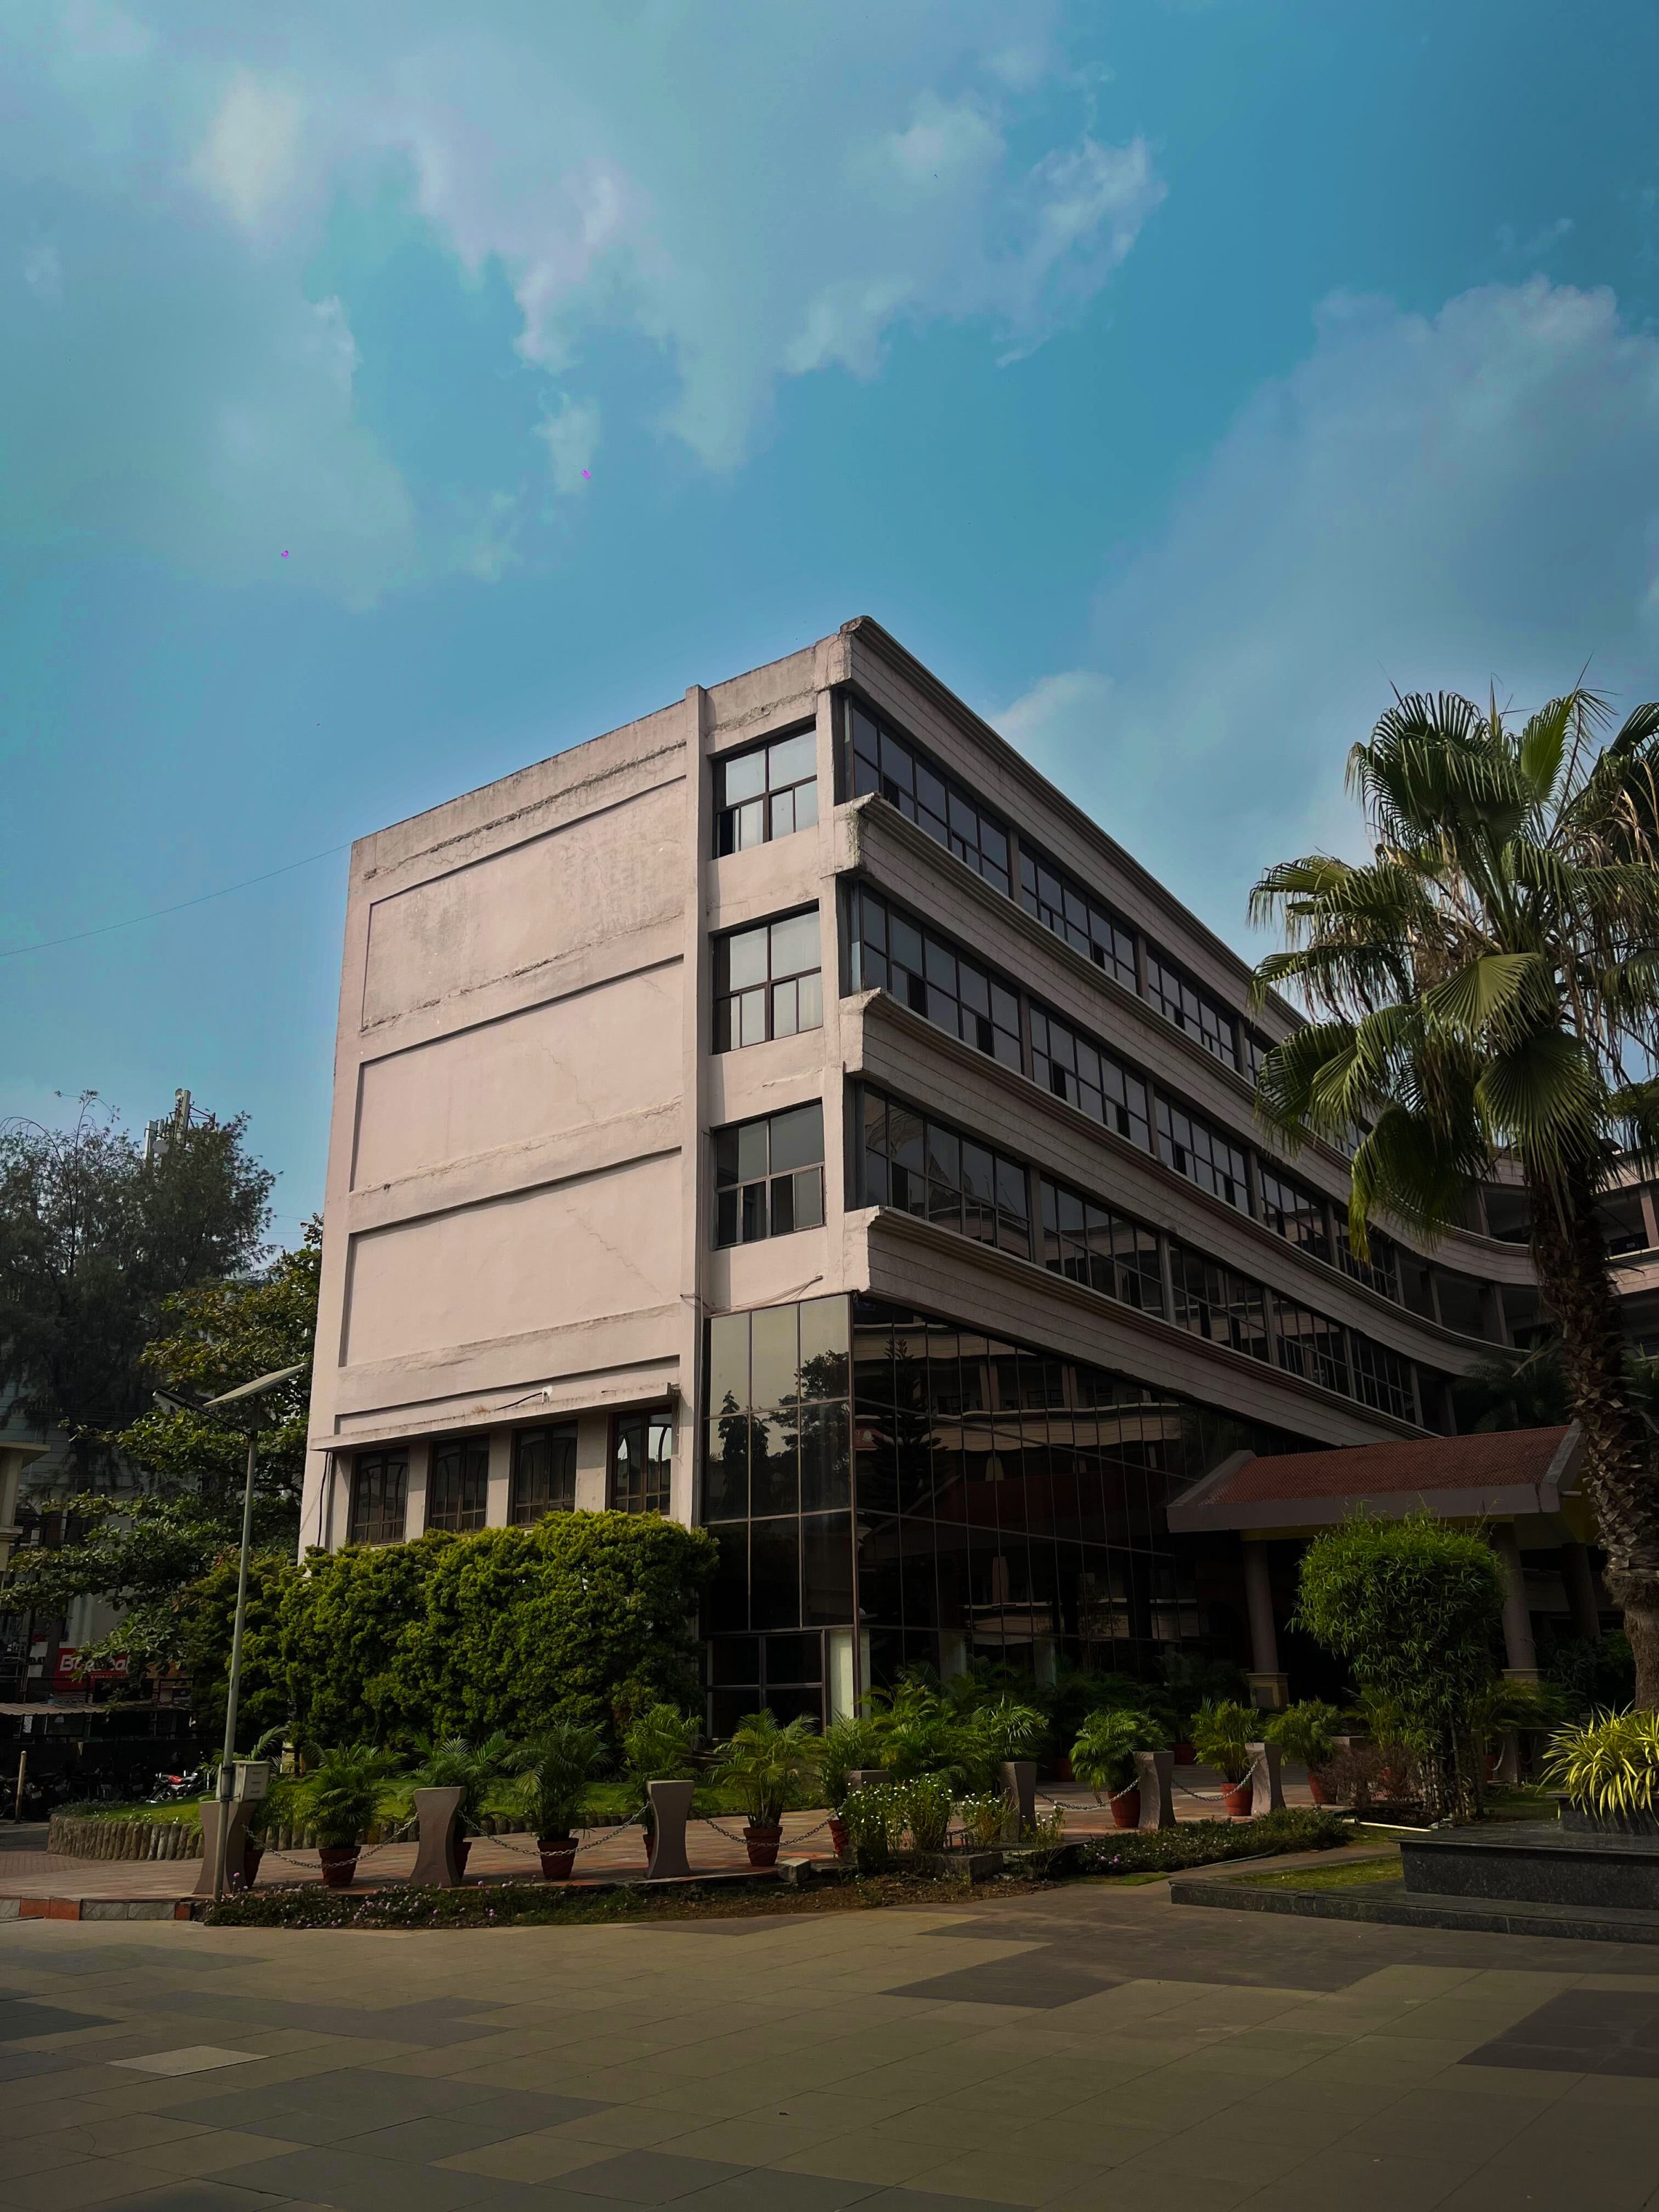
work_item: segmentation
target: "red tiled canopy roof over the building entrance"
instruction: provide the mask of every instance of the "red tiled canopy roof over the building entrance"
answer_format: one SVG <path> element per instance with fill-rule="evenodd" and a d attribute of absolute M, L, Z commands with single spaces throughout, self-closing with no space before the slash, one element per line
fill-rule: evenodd
<path fill-rule="evenodd" d="M 1427 1436 L 1261 1460 L 1237 1453 L 1170 1506 L 1170 1528 L 1305 1526 L 1343 1520 L 1360 1504 L 1387 1515 L 1425 1504 L 1449 1520 L 1559 1513 L 1577 1455 L 1575 1427 Z"/>

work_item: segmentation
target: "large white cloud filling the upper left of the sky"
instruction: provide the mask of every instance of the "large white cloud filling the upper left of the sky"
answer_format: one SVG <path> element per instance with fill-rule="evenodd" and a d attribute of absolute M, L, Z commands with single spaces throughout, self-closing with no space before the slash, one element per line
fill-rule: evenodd
<path fill-rule="evenodd" d="M 1004 356 L 1029 352 L 1110 279 L 1161 197 L 1141 142 L 1079 135 L 1086 95 L 1051 58 L 1055 11 L 730 0 L 710 29 L 679 0 L 367 15 L 290 0 L 279 22 L 252 0 L 0 0 L 18 117 L 0 135 L 0 219 L 9 192 L 27 199 L 22 234 L 49 223 L 88 301 L 60 319 L 58 352 L 18 352 L 0 296 L 0 442 L 71 400 L 95 425 L 88 453 L 64 429 L 55 489 L 24 462 L 7 526 L 104 513 L 168 557 L 195 529 L 215 575 L 259 573 L 290 438 L 279 513 L 312 535 L 356 513 L 372 595 L 478 573 L 480 529 L 487 562 L 507 560 L 542 471 L 580 484 L 608 398 L 595 363 L 617 336 L 661 354 L 666 378 L 637 380 L 666 387 L 648 427 L 710 469 L 754 451 L 783 378 L 872 376 L 900 325 L 978 323 Z M 358 420 L 352 378 L 307 343 L 332 210 L 387 190 L 411 190 L 465 272 L 507 279 L 542 383 L 544 453 L 526 425 L 511 473 L 495 460 L 498 480 L 425 504 Z M 349 305 L 336 336 L 347 321 Z M 321 453 L 345 469 L 338 487 Z M 100 467 L 161 489 L 100 509 Z"/>

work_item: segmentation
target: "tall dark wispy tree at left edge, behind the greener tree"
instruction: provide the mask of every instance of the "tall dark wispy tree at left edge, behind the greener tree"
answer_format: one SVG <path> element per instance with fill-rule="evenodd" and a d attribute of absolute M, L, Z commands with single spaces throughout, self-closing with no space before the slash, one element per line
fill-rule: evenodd
<path fill-rule="evenodd" d="M 146 1157 L 93 1093 L 69 1130 L 0 1128 L 0 1378 L 86 1484 L 119 1469 L 168 1296 L 261 1256 L 272 1177 L 243 1139 L 241 1115 L 170 1124 Z"/>

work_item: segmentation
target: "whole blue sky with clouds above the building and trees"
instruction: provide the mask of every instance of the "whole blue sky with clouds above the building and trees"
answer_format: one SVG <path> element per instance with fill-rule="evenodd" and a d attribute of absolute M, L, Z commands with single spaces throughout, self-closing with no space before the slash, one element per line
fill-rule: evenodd
<path fill-rule="evenodd" d="M 1652 9 L 0 0 L 0 1115 L 321 1199 L 352 836 L 874 613 L 1245 951 L 1659 692 Z"/>

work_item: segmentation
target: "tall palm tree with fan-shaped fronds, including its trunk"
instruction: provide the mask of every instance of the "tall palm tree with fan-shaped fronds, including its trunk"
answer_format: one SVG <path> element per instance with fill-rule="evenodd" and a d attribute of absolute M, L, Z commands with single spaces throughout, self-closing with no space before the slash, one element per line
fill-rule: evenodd
<path fill-rule="evenodd" d="M 1360 1256 L 1371 1210 L 1433 1239 L 1471 1181 L 1520 1168 L 1608 1588 L 1659 1708 L 1655 1436 L 1595 1206 L 1621 1152 L 1659 1155 L 1659 703 L 1608 726 L 1588 690 L 1520 728 L 1495 699 L 1396 695 L 1347 765 L 1371 858 L 1285 860 L 1250 896 L 1287 947 L 1256 1000 L 1290 982 L 1312 1015 L 1256 1108 L 1292 1146 L 1358 1135 Z"/>

